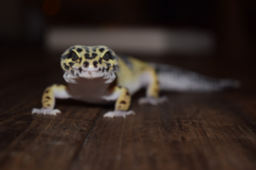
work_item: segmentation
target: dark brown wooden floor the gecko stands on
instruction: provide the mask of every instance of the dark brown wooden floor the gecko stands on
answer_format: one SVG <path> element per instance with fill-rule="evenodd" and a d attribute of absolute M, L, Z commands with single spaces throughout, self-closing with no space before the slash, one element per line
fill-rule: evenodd
<path fill-rule="evenodd" d="M 256 169 L 256 74 L 249 62 L 147 59 L 201 74 L 232 77 L 241 89 L 162 93 L 160 106 L 132 102 L 135 116 L 103 118 L 113 106 L 57 100 L 63 113 L 31 115 L 47 85 L 64 83 L 58 55 L 13 53 L 2 61 L 1 170 Z"/>

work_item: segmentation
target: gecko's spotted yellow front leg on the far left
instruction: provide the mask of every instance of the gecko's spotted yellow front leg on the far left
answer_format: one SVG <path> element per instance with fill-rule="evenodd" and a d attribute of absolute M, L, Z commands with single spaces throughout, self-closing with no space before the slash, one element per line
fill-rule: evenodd
<path fill-rule="evenodd" d="M 66 86 L 53 84 L 46 88 L 42 97 L 42 109 L 32 109 L 33 113 L 38 114 L 50 114 L 56 115 L 56 113 L 61 113 L 61 110 L 55 109 L 55 98 L 69 98 L 69 94 L 66 91 Z"/>

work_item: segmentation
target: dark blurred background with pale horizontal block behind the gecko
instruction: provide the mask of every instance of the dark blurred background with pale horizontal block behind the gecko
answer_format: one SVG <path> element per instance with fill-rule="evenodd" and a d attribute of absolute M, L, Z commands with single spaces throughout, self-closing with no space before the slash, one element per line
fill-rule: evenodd
<path fill-rule="evenodd" d="M 254 59 L 254 16 L 255 0 L 2 0 L 0 43 L 59 55 L 105 44 L 138 56 Z"/>

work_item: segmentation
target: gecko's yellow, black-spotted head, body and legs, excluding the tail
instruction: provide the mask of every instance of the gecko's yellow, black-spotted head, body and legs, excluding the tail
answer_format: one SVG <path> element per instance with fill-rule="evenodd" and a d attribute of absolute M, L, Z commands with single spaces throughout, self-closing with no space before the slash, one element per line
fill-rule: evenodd
<path fill-rule="evenodd" d="M 60 110 L 54 110 L 55 98 L 73 98 L 89 103 L 116 102 L 115 110 L 104 117 L 125 117 L 135 113 L 129 110 L 131 95 L 140 88 L 147 88 L 146 98 L 158 98 L 159 85 L 153 67 L 138 59 L 119 57 L 104 45 L 71 46 L 61 57 L 61 67 L 67 85 L 47 87 L 43 108 L 33 109 L 32 113 L 59 113 Z"/>

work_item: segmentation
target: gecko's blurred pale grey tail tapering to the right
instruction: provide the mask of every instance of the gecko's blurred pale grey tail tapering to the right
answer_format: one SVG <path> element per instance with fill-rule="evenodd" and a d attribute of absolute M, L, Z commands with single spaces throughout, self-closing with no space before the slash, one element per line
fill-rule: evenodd
<path fill-rule="evenodd" d="M 236 89 L 236 79 L 213 78 L 182 69 L 173 65 L 150 63 L 155 67 L 161 90 L 176 92 L 217 92 Z"/>

